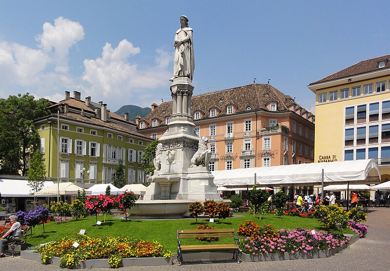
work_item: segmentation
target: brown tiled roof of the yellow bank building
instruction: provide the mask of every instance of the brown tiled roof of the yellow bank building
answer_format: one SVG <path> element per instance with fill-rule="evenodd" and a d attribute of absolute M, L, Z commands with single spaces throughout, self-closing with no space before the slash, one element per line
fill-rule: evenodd
<path fill-rule="evenodd" d="M 379 61 L 385 60 L 385 66 L 382 68 L 379 68 L 378 63 Z M 330 76 L 324 77 L 318 81 L 312 82 L 309 85 L 326 82 L 330 80 L 340 79 L 344 77 L 350 77 L 354 75 L 364 74 L 373 72 L 375 70 L 382 70 L 390 68 L 390 55 L 377 57 L 377 58 L 371 58 L 367 60 L 360 61 L 352 66 L 349 66 L 348 68 L 345 68 L 344 70 L 338 71 L 334 74 L 331 74 Z"/>

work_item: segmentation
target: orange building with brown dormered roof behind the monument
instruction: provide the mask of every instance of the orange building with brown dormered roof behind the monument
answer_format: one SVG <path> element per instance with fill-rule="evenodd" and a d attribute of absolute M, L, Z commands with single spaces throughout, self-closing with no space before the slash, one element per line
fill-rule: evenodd
<path fill-rule="evenodd" d="M 314 116 L 269 84 L 251 84 L 191 98 L 194 133 L 209 139 L 210 170 L 311 163 Z M 158 139 L 172 102 L 152 104 L 138 132 Z"/>

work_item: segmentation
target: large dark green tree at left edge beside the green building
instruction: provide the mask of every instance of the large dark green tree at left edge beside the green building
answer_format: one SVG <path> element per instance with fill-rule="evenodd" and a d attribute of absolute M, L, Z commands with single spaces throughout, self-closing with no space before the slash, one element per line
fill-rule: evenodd
<path fill-rule="evenodd" d="M 39 146 L 39 134 L 34 120 L 49 114 L 51 103 L 47 99 L 36 100 L 34 96 L 9 96 L 0 99 L 0 160 L 2 174 L 27 173 L 29 152 Z"/>

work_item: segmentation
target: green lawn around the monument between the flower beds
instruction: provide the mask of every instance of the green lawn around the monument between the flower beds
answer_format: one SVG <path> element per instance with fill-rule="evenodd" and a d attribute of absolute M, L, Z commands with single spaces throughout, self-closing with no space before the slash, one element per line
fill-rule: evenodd
<path fill-rule="evenodd" d="M 279 229 L 296 229 L 306 228 L 314 230 L 324 230 L 320 227 L 317 219 L 302 218 L 298 216 L 282 216 L 281 218 L 274 214 L 261 215 L 261 220 L 253 217 L 248 213 L 237 213 L 234 217 L 226 219 L 215 219 L 214 223 L 209 223 L 208 219 L 166 219 L 166 220 L 140 220 L 132 219 L 126 221 L 125 219 L 113 218 L 114 215 L 107 215 L 106 221 L 101 225 L 96 225 L 95 216 L 82 218 L 78 220 L 69 220 L 63 222 L 50 222 L 45 224 L 45 232 L 43 232 L 42 225 L 33 228 L 32 236 L 29 234 L 27 243 L 30 246 L 38 246 L 50 241 L 60 240 L 65 236 L 72 236 L 78 233 L 80 229 L 86 230 L 85 234 L 91 237 L 98 236 L 119 236 L 128 235 L 134 236 L 144 240 L 156 240 L 161 243 L 164 248 L 176 252 L 177 250 L 177 230 L 192 230 L 196 229 L 203 221 L 207 221 L 209 225 L 216 229 L 234 228 L 237 232 L 239 224 L 243 224 L 245 220 L 251 219 L 257 225 L 272 224 L 276 230 Z M 241 216 L 242 215 L 242 216 Z M 98 217 L 98 220 L 103 221 L 103 215 Z M 350 230 L 344 230 L 343 233 L 352 233 Z M 237 236 L 238 237 L 238 236 Z M 229 238 L 221 238 L 219 243 L 229 243 Z M 215 244 L 217 244 L 216 242 Z M 186 239 L 183 244 L 204 244 L 204 242 L 194 239 Z M 213 242 L 214 243 L 214 242 Z"/>

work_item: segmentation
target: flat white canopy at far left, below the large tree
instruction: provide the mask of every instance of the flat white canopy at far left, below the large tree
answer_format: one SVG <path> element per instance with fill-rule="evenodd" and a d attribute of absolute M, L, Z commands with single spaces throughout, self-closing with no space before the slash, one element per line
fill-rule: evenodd
<path fill-rule="evenodd" d="M 44 181 L 43 188 L 53 184 L 52 181 Z M 27 180 L 1 179 L 0 194 L 3 197 L 28 197 L 31 195 L 31 187 Z"/>

